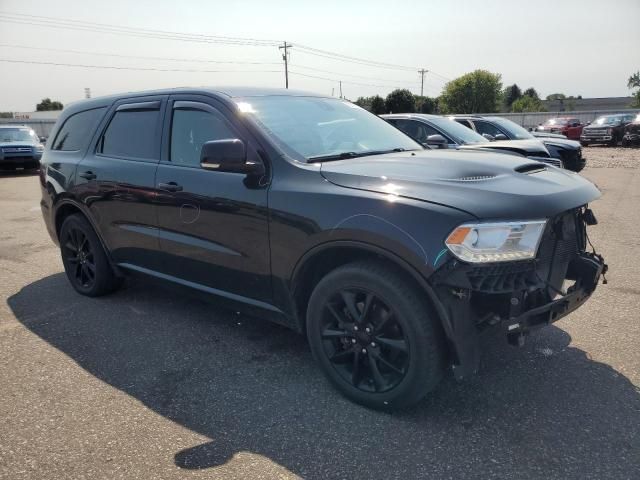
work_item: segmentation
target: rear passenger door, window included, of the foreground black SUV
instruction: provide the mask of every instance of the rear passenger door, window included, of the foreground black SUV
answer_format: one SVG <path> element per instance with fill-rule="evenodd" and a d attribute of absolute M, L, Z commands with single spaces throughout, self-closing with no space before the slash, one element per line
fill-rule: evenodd
<path fill-rule="evenodd" d="M 77 169 L 82 201 L 116 263 L 157 269 L 154 200 L 167 96 L 116 102 Z"/>

